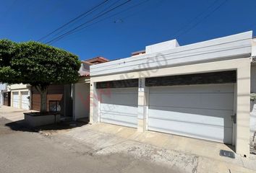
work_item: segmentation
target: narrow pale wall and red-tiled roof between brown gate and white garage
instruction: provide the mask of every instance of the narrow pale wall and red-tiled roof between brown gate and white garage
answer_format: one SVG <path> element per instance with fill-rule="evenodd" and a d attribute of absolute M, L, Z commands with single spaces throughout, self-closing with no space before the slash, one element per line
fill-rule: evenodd
<path fill-rule="evenodd" d="M 90 115 L 90 65 L 105 62 L 108 62 L 108 59 L 101 56 L 82 61 L 78 71 L 80 79 L 76 84 L 72 84 L 73 120 L 88 120 Z"/>

